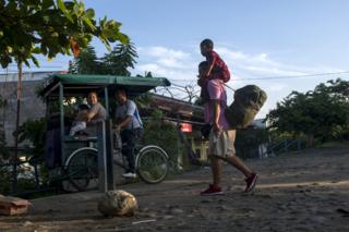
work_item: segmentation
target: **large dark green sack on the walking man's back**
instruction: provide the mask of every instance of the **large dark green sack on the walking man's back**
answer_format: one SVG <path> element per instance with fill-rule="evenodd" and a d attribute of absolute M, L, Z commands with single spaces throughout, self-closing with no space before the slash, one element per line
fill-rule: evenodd
<path fill-rule="evenodd" d="M 266 93 L 255 85 L 236 90 L 233 102 L 226 109 L 226 118 L 232 129 L 244 129 L 254 120 L 266 101 Z"/>

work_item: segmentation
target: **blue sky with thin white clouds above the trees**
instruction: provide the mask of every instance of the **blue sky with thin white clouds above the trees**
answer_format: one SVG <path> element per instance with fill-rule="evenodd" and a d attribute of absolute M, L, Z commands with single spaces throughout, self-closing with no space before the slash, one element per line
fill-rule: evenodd
<path fill-rule="evenodd" d="M 349 80 L 347 0 L 84 2 L 97 19 L 106 15 L 122 23 L 121 32 L 139 54 L 133 75 L 152 72 L 169 78 L 173 87 L 196 85 L 197 64 L 204 60 L 198 45 L 213 39 L 231 72 L 230 87 L 255 84 L 267 93 L 257 118 L 264 118 L 292 90 L 304 93 L 328 80 Z M 93 46 L 99 57 L 107 52 L 97 39 Z M 67 69 L 70 59 L 47 62 L 43 58 L 41 69 Z M 233 93 L 227 91 L 231 102 Z M 182 98 L 184 93 L 174 96 Z"/>

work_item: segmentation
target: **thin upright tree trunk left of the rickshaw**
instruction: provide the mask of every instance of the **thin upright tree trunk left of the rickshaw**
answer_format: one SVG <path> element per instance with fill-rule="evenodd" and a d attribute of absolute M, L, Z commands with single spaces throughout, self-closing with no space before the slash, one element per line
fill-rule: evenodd
<path fill-rule="evenodd" d="M 17 63 L 19 69 L 19 81 L 17 81 L 17 109 L 15 119 L 15 132 L 20 127 L 20 115 L 21 115 L 21 96 L 22 96 L 22 62 Z M 13 170 L 12 170 L 12 193 L 17 192 L 17 161 L 19 161 L 19 134 L 14 133 L 14 154 L 12 158 Z"/>

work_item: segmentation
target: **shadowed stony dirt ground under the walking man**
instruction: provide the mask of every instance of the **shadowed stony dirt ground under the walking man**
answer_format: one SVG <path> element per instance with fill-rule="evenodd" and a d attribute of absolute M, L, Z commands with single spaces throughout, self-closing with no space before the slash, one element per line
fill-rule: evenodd
<path fill-rule="evenodd" d="M 322 148 L 249 160 L 256 190 L 224 166 L 222 196 L 200 196 L 210 170 L 176 175 L 158 185 L 118 186 L 133 194 L 133 217 L 104 218 L 98 192 L 33 199 L 29 213 L 0 217 L 0 231 L 349 231 L 349 148 Z"/>

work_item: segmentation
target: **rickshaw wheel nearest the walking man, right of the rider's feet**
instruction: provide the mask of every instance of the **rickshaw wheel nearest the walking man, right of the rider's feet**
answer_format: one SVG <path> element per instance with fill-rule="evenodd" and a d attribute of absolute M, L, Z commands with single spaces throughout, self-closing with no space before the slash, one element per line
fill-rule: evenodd
<path fill-rule="evenodd" d="M 136 168 L 145 183 L 160 183 L 168 173 L 168 156 L 160 147 L 146 146 L 137 155 Z"/>

